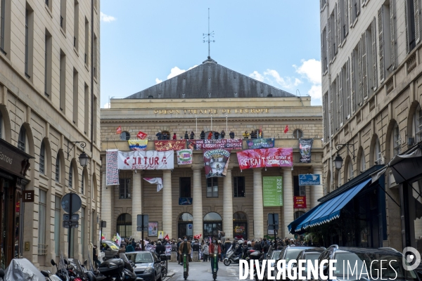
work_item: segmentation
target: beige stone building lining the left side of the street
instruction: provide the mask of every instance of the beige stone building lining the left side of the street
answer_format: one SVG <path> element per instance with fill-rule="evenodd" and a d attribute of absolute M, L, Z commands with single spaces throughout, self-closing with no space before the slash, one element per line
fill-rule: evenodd
<path fill-rule="evenodd" d="M 68 247 L 87 259 L 99 240 L 99 13 L 98 0 L 0 1 L 1 268 L 51 268 Z M 82 198 L 70 244 L 68 192 Z"/>

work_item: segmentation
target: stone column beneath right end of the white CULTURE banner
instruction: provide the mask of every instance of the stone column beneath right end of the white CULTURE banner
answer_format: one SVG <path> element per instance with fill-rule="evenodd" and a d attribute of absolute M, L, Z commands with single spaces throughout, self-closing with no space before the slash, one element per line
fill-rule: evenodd
<path fill-rule="evenodd" d="M 172 214 L 172 171 L 162 171 L 162 231 L 164 236 L 173 237 L 173 214 Z"/>

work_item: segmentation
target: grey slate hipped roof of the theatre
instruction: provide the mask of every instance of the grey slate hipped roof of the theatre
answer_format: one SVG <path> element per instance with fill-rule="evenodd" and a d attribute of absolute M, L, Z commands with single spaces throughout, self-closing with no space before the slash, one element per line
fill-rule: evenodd
<path fill-rule="evenodd" d="M 295 96 L 230 70 L 208 57 L 201 65 L 127 98 L 265 98 L 271 95 Z"/>

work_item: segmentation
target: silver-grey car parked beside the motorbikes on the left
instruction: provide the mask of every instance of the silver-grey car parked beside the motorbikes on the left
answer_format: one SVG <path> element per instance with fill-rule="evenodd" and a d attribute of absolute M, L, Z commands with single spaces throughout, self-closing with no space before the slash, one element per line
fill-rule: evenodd
<path fill-rule="evenodd" d="M 136 277 L 145 281 L 162 281 L 161 260 L 151 251 L 131 251 L 127 259 L 134 263 Z"/>

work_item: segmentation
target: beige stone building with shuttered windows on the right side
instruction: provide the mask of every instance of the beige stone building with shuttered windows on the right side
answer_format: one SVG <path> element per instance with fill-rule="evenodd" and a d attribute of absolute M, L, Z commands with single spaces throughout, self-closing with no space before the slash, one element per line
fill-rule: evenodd
<path fill-rule="evenodd" d="M 365 171 L 376 173 L 422 140 L 421 1 L 320 3 L 324 177 L 329 194 L 361 175 L 370 177 Z M 341 169 L 333 163 L 337 154 L 343 159 Z M 411 246 L 421 251 L 420 171 L 403 184 L 392 170 L 381 169 L 383 186 L 374 191 L 385 193 L 386 236 L 380 235 L 373 247 L 401 251 Z M 412 197 L 416 213 L 406 207 Z M 376 235 L 370 228 L 380 221 L 366 219 L 354 245 Z"/>

